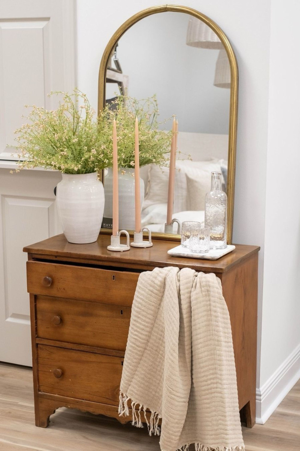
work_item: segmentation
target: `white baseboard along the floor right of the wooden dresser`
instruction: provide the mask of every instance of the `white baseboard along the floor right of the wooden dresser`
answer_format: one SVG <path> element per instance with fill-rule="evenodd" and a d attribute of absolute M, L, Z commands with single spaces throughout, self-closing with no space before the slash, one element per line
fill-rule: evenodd
<path fill-rule="evenodd" d="M 264 424 L 300 379 L 300 345 L 260 388 L 256 389 L 256 423 Z"/>

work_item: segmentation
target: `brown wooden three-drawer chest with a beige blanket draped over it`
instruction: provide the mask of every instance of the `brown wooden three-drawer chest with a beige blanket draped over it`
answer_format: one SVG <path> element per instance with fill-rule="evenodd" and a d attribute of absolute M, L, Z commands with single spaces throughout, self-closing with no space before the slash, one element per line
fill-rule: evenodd
<path fill-rule="evenodd" d="M 220 277 L 230 314 L 239 406 L 247 425 L 255 421 L 257 261 L 259 248 L 237 246 L 216 261 L 172 258 L 176 243 L 107 251 L 110 237 L 70 244 L 64 235 L 24 248 L 36 425 L 46 427 L 62 406 L 118 416 L 119 385 L 131 304 L 139 273 L 154 267 L 192 267 Z"/>

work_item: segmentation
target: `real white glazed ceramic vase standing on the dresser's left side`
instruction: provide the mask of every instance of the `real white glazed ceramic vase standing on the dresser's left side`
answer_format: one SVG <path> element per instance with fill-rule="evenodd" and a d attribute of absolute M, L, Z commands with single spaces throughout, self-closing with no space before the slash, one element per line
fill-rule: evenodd
<path fill-rule="evenodd" d="M 56 189 L 56 203 L 63 233 L 69 243 L 93 243 L 103 220 L 103 184 L 97 172 L 62 175 Z"/>

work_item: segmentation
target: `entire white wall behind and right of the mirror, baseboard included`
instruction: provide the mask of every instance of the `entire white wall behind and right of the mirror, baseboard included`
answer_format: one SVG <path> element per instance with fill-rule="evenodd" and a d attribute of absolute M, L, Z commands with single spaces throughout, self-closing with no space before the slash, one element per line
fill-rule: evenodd
<path fill-rule="evenodd" d="M 212 18 L 237 55 L 240 84 L 233 241 L 261 246 L 257 398 L 258 415 L 265 420 L 295 380 L 300 363 L 300 62 L 296 60 L 300 5 L 297 0 L 288 0 L 284 8 L 280 0 L 173 3 L 184 3 Z M 127 18 L 155 4 L 151 0 L 105 4 L 77 0 L 78 85 L 94 106 L 99 63 L 108 40 Z M 279 240 L 286 246 L 280 257 L 275 247 Z M 278 385 L 278 380 L 284 384 Z"/>

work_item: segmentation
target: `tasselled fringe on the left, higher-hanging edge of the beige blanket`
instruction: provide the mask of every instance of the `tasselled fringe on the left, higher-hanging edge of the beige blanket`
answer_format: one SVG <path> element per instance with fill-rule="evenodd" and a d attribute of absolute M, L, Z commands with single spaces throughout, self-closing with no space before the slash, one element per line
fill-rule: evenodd
<path fill-rule="evenodd" d="M 128 401 L 130 401 L 130 397 L 124 395 L 124 393 L 122 393 L 120 391 L 120 396 L 119 396 L 119 416 L 129 416 L 129 407 L 128 407 Z M 139 410 L 136 409 L 136 406 L 139 405 Z M 139 404 L 139 402 L 134 402 L 131 400 L 131 409 L 132 409 L 132 425 L 135 426 L 136 428 L 143 428 L 143 423 L 142 423 L 142 418 L 141 418 L 141 414 L 143 414 L 144 416 L 144 420 L 147 424 L 148 427 L 148 432 L 150 437 L 153 435 L 160 435 L 161 433 L 161 429 L 158 425 L 159 420 L 161 419 L 160 414 L 158 414 L 157 412 L 154 412 L 153 410 L 151 410 L 151 416 L 150 416 L 150 420 L 148 421 L 147 416 L 146 416 L 146 410 L 147 407 Z"/>

